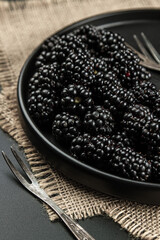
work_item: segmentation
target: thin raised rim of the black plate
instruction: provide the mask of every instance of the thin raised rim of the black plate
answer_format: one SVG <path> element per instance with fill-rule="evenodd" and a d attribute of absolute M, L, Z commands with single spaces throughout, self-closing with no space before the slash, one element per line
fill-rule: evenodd
<path fill-rule="evenodd" d="M 148 9 L 148 8 L 143 8 L 143 9 L 132 9 L 132 10 L 121 10 L 121 11 L 112 11 L 112 12 L 106 12 L 106 13 L 102 13 L 102 14 L 96 14 L 93 15 L 91 17 L 87 17 L 84 19 L 81 19 L 79 21 L 76 21 L 72 24 L 69 24 L 63 28 L 61 28 L 60 30 L 54 32 L 52 35 L 48 36 L 46 39 L 50 38 L 51 36 L 57 34 L 57 35 L 61 35 L 64 31 L 70 31 L 72 28 L 75 28 L 79 25 L 84 25 L 87 24 L 87 22 L 89 21 L 93 21 L 93 20 L 97 20 L 98 19 L 102 19 L 104 17 L 110 17 L 110 16 L 115 16 L 115 15 L 121 15 L 121 14 L 132 14 L 132 13 L 152 13 L 152 12 L 157 12 L 160 13 L 160 8 L 152 8 L 152 9 Z M 45 40 L 46 40 L 45 39 Z M 44 41 L 43 41 L 44 42 Z M 137 185 L 137 187 L 152 187 L 155 189 L 160 189 L 160 184 L 159 183 L 152 183 L 152 182 L 141 182 L 141 181 L 136 181 L 136 180 L 131 180 L 128 178 L 124 178 L 124 177 L 119 177 L 117 175 L 111 174 L 111 173 L 107 173 L 107 172 L 103 172 L 97 168 L 94 168 L 90 165 L 87 165 L 85 163 L 82 163 L 80 160 L 77 160 L 75 158 L 73 158 L 71 155 L 63 152 L 61 149 L 59 149 L 58 147 L 56 147 L 53 143 L 51 143 L 49 141 L 49 139 L 47 139 L 43 133 L 37 128 L 36 124 L 32 121 L 32 119 L 30 118 L 29 114 L 27 113 L 27 109 L 25 108 L 25 103 L 23 101 L 23 95 L 22 95 L 22 83 L 23 83 L 23 76 L 25 74 L 25 69 L 27 67 L 27 65 L 30 63 L 31 59 L 34 58 L 35 54 L 38 52 L 38 50 L 40 49 L 41 44 L 43 43 L 41 42 L 39 44 L 38 47 L 36 47 L 31 54 L 29 55 L 29 57 L 27 57 L 25 63 L 23 64 L 23 67 L 21 68 L 19 77 L 18 77 L 18 84 L 17 84 L 17 99 L 18 99 L 18 105 L 20 108 L 20 111 L 23 115 L 23 117 L 25 117 L 25 119 L 27 120 L 27 123 L 29 123 L 30 127 L 34 130 L 34 132 L 41 138 L 42 142 L 44 142 L 45 144 L 47 144 L 49 146 L 50 149 L 56 151 L 61 157 L 65 157 L 65 160 L 71 162 L 72 164 L 80 167 L 81 169 L 85 169 L 90 173 L 93 173 L 97 176 L 101 176 L 104 177 L 106 180 L 110 179 L 110 180 L 114 180 L 117 182 L 121 182 L 121 183 L 125 183 L 125 184 L 129 184 L 130 186 L 132 185 Z"/>

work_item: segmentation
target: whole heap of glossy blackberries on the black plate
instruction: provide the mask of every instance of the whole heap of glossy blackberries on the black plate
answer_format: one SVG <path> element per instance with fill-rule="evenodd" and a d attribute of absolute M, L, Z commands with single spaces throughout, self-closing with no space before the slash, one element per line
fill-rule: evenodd
<path fill-rule="evenodd" d="M 160 93 L 120 34 L 85 25 L 54 35 L 34 69 L 27 104 L 40 129 L 79 161 L 160 182 Z"/>

